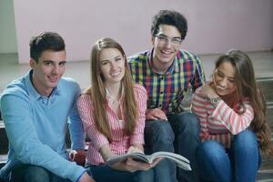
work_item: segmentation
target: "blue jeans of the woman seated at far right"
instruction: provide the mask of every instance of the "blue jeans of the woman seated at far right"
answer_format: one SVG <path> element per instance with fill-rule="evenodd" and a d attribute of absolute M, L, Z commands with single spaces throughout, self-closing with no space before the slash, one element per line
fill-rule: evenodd
<path fill-rule="evenodd" d="M 229 149 L 214 140 L 197 147 L 202 181 L 254 182 L 260 162 L 257 136 L 250 130 L 234 136 Z"/>

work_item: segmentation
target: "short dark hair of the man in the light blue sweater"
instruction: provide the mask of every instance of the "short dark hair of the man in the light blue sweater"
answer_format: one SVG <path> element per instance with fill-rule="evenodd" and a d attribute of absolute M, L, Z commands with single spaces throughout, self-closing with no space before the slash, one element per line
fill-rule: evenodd
<path fill-rule="evenodd" d="M 39 57 L 45 50 L 63 51 L 66 44 L 62 36 L 55 32 L 42 32 L 33 36 L 29 42 L 30 57 L 38 62 Z"/>

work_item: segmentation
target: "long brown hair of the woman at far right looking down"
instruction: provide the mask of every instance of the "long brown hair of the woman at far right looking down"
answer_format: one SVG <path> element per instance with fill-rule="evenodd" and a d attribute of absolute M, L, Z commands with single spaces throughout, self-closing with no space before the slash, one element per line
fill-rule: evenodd
<path fill-rule="evenodd" d="M 250 58 L 242 51 L 231 50 L 225 56 L 220 56 L 217 59 L 216 69 L 223 62 L 230 63 L 236 70 L 236 100 L 243 106 L 243 112 L 246 110 L 243 105 L 243 98 L 248 97 L 250 99 L 250 105 L 254 111 L 254 119 L 250 127 L 258 136 L 260 149 L 266 154 L 273 154 L 273 148 L 270 145 L 270 128 L 267 122 L 267 105 L 265 97 L 258 89 Z"/>

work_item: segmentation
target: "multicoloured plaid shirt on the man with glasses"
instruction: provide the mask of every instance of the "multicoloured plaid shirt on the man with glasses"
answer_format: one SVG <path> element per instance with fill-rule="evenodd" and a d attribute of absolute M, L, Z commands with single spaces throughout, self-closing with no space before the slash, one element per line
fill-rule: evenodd
<path fill-rule="evenodd" d="M 164 75 L 152 67 L 152 51 L 128 57 L 133 80 L 147 89 L 147 108 L 160 108 L 166 114 L 182 112 L 183 98 L 191 86 L 195 91 L 205 82 L 202 63 L 197 56 L 180 50 Z"/>

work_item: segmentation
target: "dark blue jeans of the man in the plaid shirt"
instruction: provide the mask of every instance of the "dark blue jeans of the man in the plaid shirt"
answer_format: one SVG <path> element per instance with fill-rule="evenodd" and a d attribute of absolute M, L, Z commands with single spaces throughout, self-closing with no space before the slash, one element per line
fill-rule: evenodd
<path fill-rule="evenodd" d="M 195 157 L 199 140 L 199 120 L 195 114 L 184 112 L 167 116 L 165 120 L 147 120 L 145 127 L 145 152 L 176 152 L 187 157 L 193 171 L 177 168 L 164 159 L 154 167 L 157 182 L 197 182 L 197 161 Z M 177 172 L 176 172 L 177 171 Z M 176 174 L 177 173 L 177 174 Z M 177 177 L 176 177 L 177 176 Z"/>

